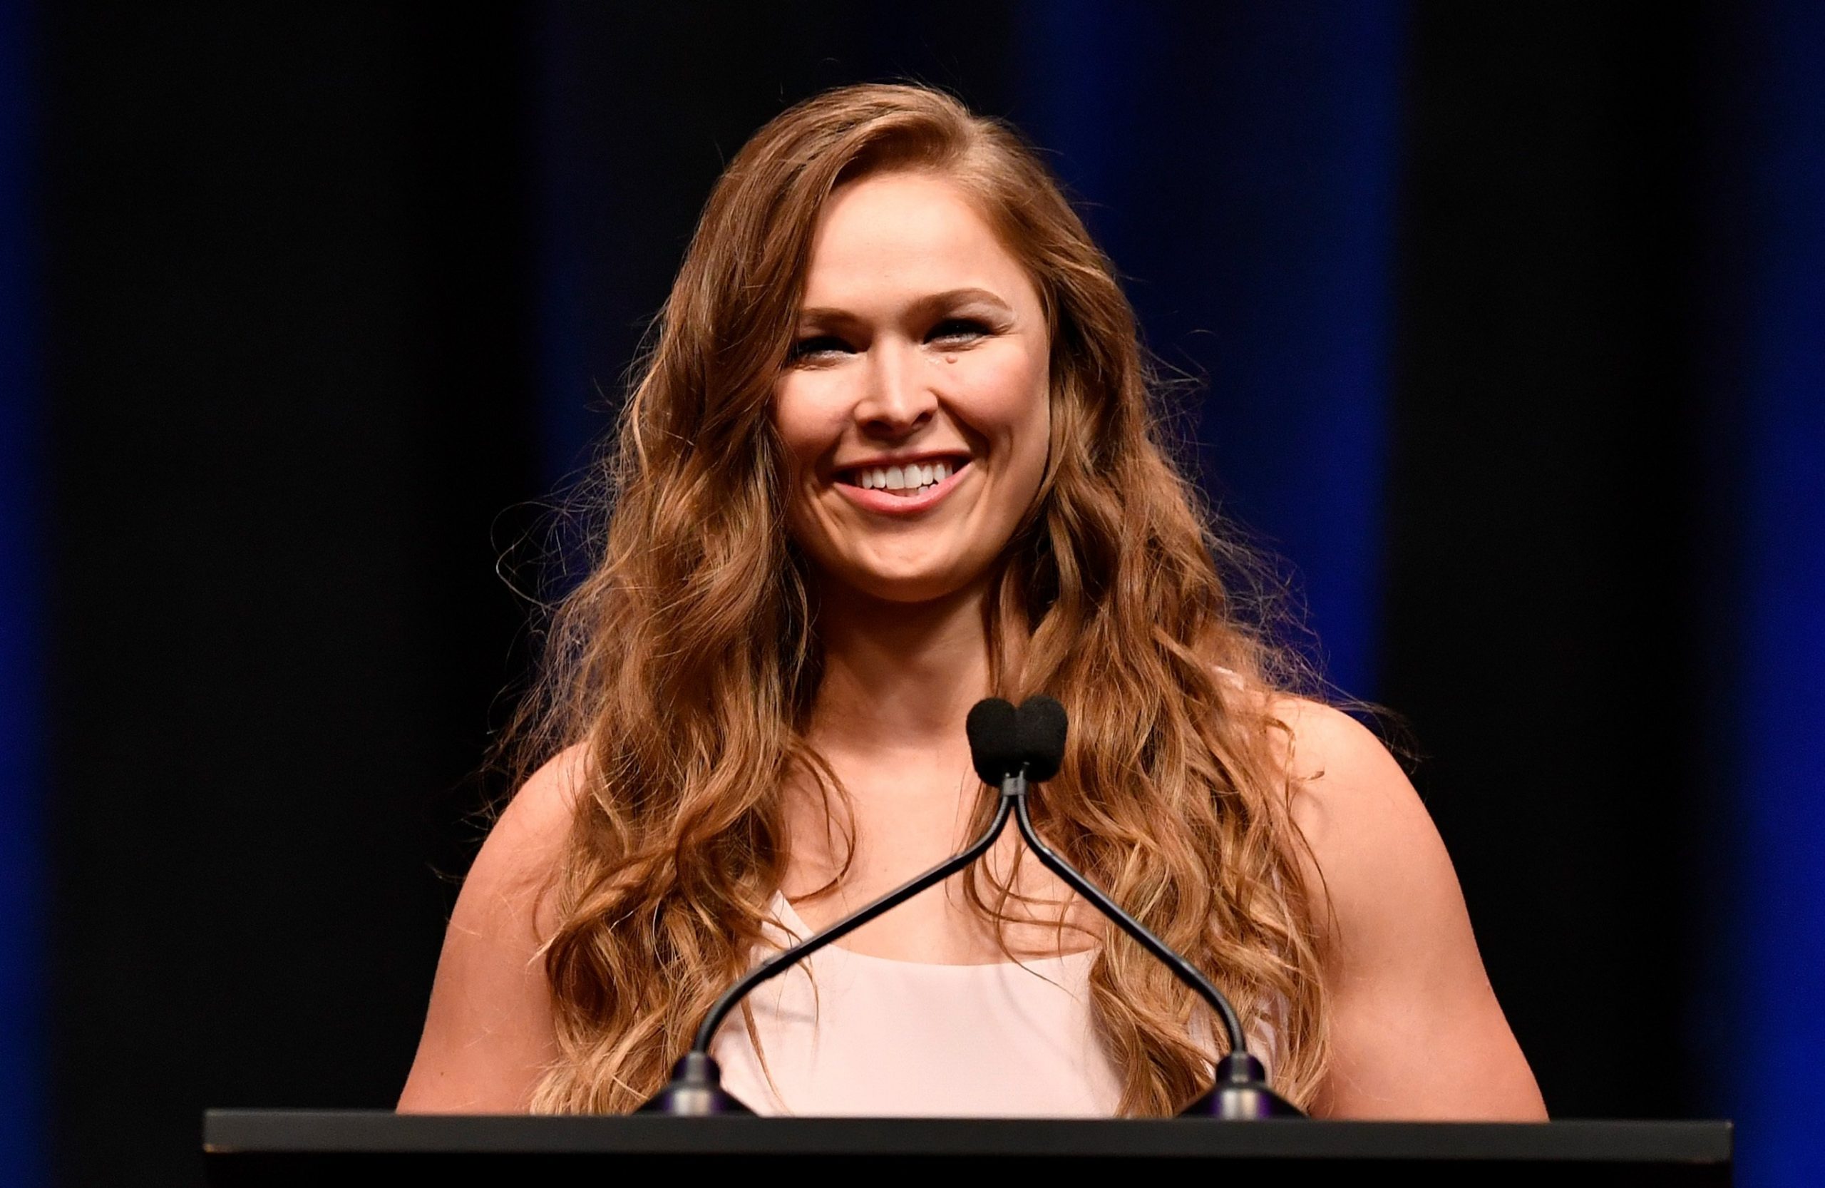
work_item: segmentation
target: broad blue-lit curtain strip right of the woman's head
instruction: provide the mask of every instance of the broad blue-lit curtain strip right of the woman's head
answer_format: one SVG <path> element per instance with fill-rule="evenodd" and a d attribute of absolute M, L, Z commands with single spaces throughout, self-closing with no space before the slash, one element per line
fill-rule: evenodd
<path fill-rule="evenodd" d="M 1022 13 L 1017 119 L 1153 350 L 1204 383 L 1212 496 L 1296 568 L 1329 677 L 1372 695 L 1403 5 Z"/>

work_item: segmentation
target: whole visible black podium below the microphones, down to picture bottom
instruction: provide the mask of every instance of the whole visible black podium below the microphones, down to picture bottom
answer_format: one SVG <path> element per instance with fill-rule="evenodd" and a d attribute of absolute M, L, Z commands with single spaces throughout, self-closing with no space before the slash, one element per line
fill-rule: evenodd
<path fill-rule="evenodd" d="M 1236 1175 L 1334 1184 L 1728 1184 L 1728 1122 L 1215 1122 L 1069 1119 L 427 1117 L 210 1110 L 208 1183 L 502 1184 L 529 1175 L 892 1172 Z M 1066 1166 L 1069 1162 L 1069 1166 Z M 841 1166 L 840 1166 L 841 1164 Z M 409 1177 L 409 1179 L 405 1179 Z M 506 1177 L 506 1179 L 504 1179 Z M 1465 1177 L 1471 1177 L 1465 1181 Z"/>

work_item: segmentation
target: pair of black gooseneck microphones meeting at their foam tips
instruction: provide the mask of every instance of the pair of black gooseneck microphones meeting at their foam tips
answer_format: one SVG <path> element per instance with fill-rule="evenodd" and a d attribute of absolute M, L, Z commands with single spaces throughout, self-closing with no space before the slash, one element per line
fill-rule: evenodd
<path fill-rule="evenodd" d="M 1267 1069 L 1248 1053 L 1248 1037 L 1243 1031 L 1236 1007 L 1195 965 L 1179 956 L 1166 942 L 1153 936 L 1139 920 L 1124 912 L 1113 900 L 1099 891 L 1090 880 L 1077 872 L 1071 863 L 1048 847 L 1033 828 L 1027 812 L 1027 792 L 1031 785 L 1044 783 L 1058 772 L 1064 761 L 1066 715 L 1051 697 L 1031 697 L 1018 710 L 1013 704 L 989 697 L 978 701 L 969 712 L 969 752 L 976 774 L 989 787 L 1000 788 L 1000 803 L 995 819 L 967 849 L 949 858 L 925 874 L 896 891 L 838 920 L 821 933 L 774 954 L 761 962 L 734 985 L 723 991 L 710 1013 L 704 1015 L 692 1038 L 690 1051 L 673 1066 L 672 1080 L 652 1100 L 641 1106 L 641 1113 L 672 1115 L 728 1115 L 754 1113 L 721 1084 L 721 1069 L 710 1057 L 710 1042 L 728 1013 L 763 982 L 783 974 L 792 965 L 808 958 L 818 949 L 841 940 L 849 933 L 869 923 L 876 916 L 892 911 L 912 896 L 951 878 L 969 863 L 976 861 L 1007 827 L 1007 818 L 1018 821 L 1020 836 L 1038 856 L 1040 863 L 1057 874 L 1077 894 L 1084 896 L 1099 912 L 1115 922 L 1135 942 L 1159 958 L 1166 969 L 1190 985 L 1199 998 L 1210 1004 L 1230 1042 L 1230 1051 L 1215 1068 L 1215 1088 L 1192 1102 L 1179 1117 L 1217 1117 L 1217 1119 L 1270 1119 L 1303 1117 L 1288 1100 L 1268 1088 Z"/>

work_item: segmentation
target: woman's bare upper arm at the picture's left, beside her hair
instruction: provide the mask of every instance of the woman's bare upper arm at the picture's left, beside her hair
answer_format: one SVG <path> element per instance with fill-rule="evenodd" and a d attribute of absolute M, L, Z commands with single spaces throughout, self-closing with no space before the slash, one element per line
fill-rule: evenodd
<path fill-rule="evenodd" d="M 542 766 L 500 814 L 443 934 L 407 1113 L 518 1113 L 557 1057 L 540 949 L 569 838 L 580 748 Z"/>

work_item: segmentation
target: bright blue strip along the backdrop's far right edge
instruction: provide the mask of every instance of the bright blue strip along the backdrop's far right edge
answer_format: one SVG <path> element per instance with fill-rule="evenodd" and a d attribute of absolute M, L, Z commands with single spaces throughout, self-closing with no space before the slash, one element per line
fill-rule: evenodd
<path fill-rule="evenodd" d="M 1743 449 L 1741 684 L 1732 723 L 1741 850 L 1734 976 L 1741 1179 L 1825 1175 L 1825 7 L 1750 5 L 1728 115 L 1739 255 L 1736 374 L 1717 414 Z"/>

